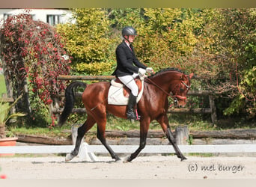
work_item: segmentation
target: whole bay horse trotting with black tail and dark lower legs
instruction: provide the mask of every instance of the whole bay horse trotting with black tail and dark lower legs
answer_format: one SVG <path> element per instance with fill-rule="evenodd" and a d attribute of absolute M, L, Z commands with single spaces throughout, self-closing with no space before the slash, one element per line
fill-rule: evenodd
<path fill-rule="evenodd" d="M 144 92 L 137 104 L 138 115 L 140 115 L 140 144 L 134 153 L 124 159 L 124 162 L 131 162 L 144 149 L 152 120 L 156 120 L 162 126 L 162 130 L 174 147 L 177 157 L 181 161 L 186 159 L 177 147 L 168 123 L 168 96 L 172 96 L 179 107 L 186 105 L 186 93 L 189 91 L 192 76 L 193 73 L 186 75 L 180 70 L 166 68 L 144 79 Z M 96 82 L 89 85 L 84 82 L 70 83 L 65 91 L 64 111 L 61 113 L 58 125 L 62 126 L 70 115 L 75 100 L 74 90 L 78 87 L 85 88 L 82 93 L 82 102 L 88 117 L 85 123 L 79 127 L 76 146 L 71 153 L 67 154 L 66 161 L 70 161 L 78 155 L 82 138 L 95 123 L 97 123 L 97 138 L 109 151 L 112 159 L 115 159 L 116 162 L 120 161 L 121 159 L 106 142 L 106 114 L 109 112 L 117 117 L 127 119 L 127 105 L 108 104 L 106 98 L 108 97 L 110 82 Z"/>

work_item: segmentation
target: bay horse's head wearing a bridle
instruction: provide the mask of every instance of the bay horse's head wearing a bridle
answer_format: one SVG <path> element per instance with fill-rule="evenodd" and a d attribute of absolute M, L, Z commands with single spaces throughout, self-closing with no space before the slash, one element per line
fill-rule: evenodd
<path fill-rule="evenodd" d="M 177 85 L 174 86 L 172 91 L 174 97 L 174 105 L 181 108 L 186 105 L 186 94 L 190 89 L 190 79 L 194 73 L 185 75 L 184 73 L 180 76 L 180 80 L 177 82 Z"/>

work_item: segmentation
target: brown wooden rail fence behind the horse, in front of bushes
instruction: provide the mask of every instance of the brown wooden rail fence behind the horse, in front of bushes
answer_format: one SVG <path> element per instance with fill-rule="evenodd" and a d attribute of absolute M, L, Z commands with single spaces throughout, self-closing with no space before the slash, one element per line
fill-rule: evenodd
<path fill-rule="evenodd" d="M 69 81 L 110 81 L 115 76 L 58 76 L 60 80 Z M 82 93 L 76 93 L 77 96 L 81 96 Z M 61 94 L 64 96 L 64 93 Z M 211 114 L 212 123 L 216 123 L 216 106 L 214 103 L 213 93 L 209 91 L 189 91 L 188 96 L 208 96 L 210 108 L 169 108 L 168 114 Z M 63 108 L 59 107 L 58 100 L 55 99 L 55 105 L 51 106 L 50 110 L 54 114 L 60 114 Z M 85 113 L 85 108 L 73 108 L 73 113 Z"/>

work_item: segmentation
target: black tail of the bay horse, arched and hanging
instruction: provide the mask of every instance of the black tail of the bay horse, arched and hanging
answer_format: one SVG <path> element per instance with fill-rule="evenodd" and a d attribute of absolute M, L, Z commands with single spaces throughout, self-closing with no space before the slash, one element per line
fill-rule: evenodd
<path fill-rule="evenodd" d="M 75 95 L 74 90 L 78 87 L 84 87 L 86 88 L 85 82 L 72 82 L 70 85 L 67 86 L 65 91 L 65 105 L 64 110 L 61 113 L 60 119 L 58 120 L 58 126 L 62 126 L 65 121 L 67 120 L 67 117 L 69 117 L 75 102 Z"/>

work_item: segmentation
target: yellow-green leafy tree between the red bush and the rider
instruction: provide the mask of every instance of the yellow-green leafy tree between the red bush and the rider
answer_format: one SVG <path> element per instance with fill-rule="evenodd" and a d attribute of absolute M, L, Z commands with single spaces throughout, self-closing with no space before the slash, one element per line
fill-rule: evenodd
<path fill-rule="evenodd" d="M 113 40 L 106 11 L 74 8 L 72 13 L 76 22 L 58 25 L 58 33 L 64 37 L 65 48 L 73 57 L 73 71 L 85 73 L 86 64 L 112 61 L 113 53 L 109 49 Z"/>

